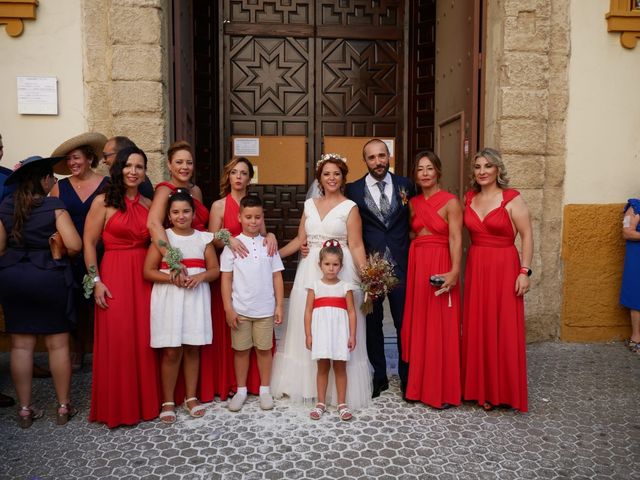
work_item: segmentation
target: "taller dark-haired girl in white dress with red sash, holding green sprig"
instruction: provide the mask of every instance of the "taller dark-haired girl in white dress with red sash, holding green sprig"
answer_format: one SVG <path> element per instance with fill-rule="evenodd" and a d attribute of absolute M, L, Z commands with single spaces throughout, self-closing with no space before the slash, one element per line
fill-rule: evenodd
<path fill-rule="evenodd" d="M 174 390 L 182 361 L 186 398 L 184 407 L 192 417 L 202 417 L 205 407 L 196 397 L 200 346 L 212 341 L 211 289 L 209 282 L 220 275 L 213 233 L 191 227 L 194 203 L 186 189 L 177 189 L 167 206 L 171 228 L 166 230 L 169 244 L 179 248 L 181 263 L 187 270 L 181 277 L 171 274 L 169 265 L 155 245 L 149 247 L 144 277 L 154 282 L 151 291 L 151 346 L 162 348 L 161 377 L 163 404 L 160 420 L 176 421 Z"/>

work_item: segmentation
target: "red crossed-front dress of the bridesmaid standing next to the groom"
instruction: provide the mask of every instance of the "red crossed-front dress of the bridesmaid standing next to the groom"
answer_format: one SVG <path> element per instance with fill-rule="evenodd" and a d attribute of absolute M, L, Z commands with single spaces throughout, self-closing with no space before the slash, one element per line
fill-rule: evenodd
<path fill-rule="evenodd" d="M 460 290 L 435 296 L 429 277 L 451 270 L 449 225 L 438 214 L 455 195 L 440 190 L 428 199 L 411 199 L 407 294 L 402 321 L 402 359 L 409 363 L 406 397 L 434 408 L 460 405 Z"/>

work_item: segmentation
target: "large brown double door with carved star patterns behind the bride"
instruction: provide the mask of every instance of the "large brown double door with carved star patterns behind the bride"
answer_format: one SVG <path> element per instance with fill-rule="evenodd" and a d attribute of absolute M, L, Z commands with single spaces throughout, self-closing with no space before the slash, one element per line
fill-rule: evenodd
<path fill-rule="evenodd" d="M 268 228 L 286 243 L 296 235 L 324 136 L 403 144 L 404 2 L 225 0 L 223 19 L 224 159 L 234 136 L 308 139 L 306 184 L 252 186 L 265 201 Z M 288 280 L 294 264 L 286 262 Z"/>

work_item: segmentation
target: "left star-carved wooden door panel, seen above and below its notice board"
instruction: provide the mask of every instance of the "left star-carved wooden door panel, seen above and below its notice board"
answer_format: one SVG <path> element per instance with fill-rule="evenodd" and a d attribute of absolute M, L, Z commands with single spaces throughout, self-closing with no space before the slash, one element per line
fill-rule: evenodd
<path fill-rule="evenodd" d="M 225 96 L 225 137 L 313 137 L 313 38 L 248 33 L 225 35 L 225 91 L 229 92 Z M 225 157 L 230 158 L 231 145 L 226 147 Z M 303 161 L 313 156 L 310 141 Z M 263 197 L 269 231 L 282 245 L 293 239 L 306 186 L 261 185 L 251 189 Z M 296 264 L 296 256 L 286 259 L 287 281 L 293 280 Z"/>

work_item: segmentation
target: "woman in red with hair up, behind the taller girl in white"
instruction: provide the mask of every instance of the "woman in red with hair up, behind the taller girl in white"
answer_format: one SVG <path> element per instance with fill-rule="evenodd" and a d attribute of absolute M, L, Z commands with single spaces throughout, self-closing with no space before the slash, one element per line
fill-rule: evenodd
<path fill-rule="evenodd" d="M 151 233 L 152 242 L 158 247 L 160 253 L 164 256 L 166 248 L 161 247 L 159 242 L 165 242 L 169 244 L 169 239 L 165 232 L 165 228 L 168 227 L 167 220 L 167 206 L 169 204 L 169 195 L 176 191 L 177 188 L 184 188 L 191 193 L 193 198 L 193 204 L 195 207 L 194 218 L 192 227 L 195 230 L 204 232 L 207 230 L 207 224 L 209 223 L 209 210 L 202 203 L 202 190 L 191 182 L 193 172 L 195 169 L 195 162 L 193 159 L 193 149 L 188 142 L 179 140 L 174 142 L 167 151 L 167 167 L 169 169 L 170 179 L 168 182 L 160 182 L 156 185 L 156 190 L 153 195 L 153 202 L 149 209 L 149 221 L 147 226 L 149 227 L 149 233 Z M 183 276 L 178 276 L 174 279 L 175 282 L 184 282 L 186 279 Z M 204 346 L 203 348 L 207 348 Z M 209 378 L 213 375 L 211 367 L 207 368 L 207 364 L 200 361 L 200 379 L 198 381 L 198 398 L 203 402 L 210 402 L 213 400 L 213 393 L 207 387 Z M 185 384 L 182 370 L 178 376 L 178 380 L 175 388 L 175 403 L 181 404 L 185 400 Z M 200 402 L 198 400 L 189 400 L 189 409 L 196 408 Z"/>

